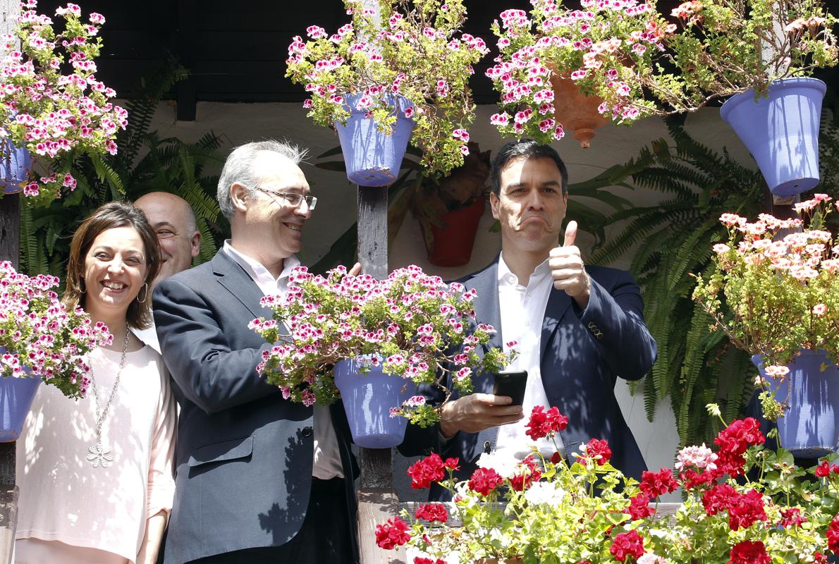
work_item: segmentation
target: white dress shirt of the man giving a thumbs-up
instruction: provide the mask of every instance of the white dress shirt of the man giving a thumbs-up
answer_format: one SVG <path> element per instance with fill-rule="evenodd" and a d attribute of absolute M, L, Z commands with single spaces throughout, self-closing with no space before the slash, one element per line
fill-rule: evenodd
<path fill-rule="evenodd" d="M 498 305 L 501 310 L 501 336 L 504 341 L 504 353 L 509 353 L 508 342 L 518 342 L 519 356 L 508 366 L 508 370 L 527 370 L 527 386 L 524 389 L 524 419 L 508 423 L 498 428 L 497 452 L 524 458 L 532 451 L 531 445 L 539 448 L 543 457 L 550 458 L 556 447 L 547 439 L 534 441 L 525 434 L 530 420 L 530 411 L 534 405 L 544 405 L 550 409 L 545 384 L 542 384 L 540 368 L 540 344 L 542 341 L 542 321 L 548 306 L 550 289 L 554 279 L 550 275 L 548 259 L 536 267 L 526 286 L 519 284 L 519 279 L 510 272 L 504 262 L 503 253 L 498 258 Z M 556 446 L 562 452 L 562 439 L 554 437 Z"/>

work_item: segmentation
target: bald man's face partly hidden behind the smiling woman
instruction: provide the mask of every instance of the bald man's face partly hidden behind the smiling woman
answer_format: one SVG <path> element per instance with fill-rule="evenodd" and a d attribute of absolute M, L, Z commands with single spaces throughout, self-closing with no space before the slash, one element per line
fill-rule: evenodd
<path fill-rule="evenodd" d="M 190 204 L 169 192 L 149 192 L 134 201 L 149 219 L 160 243 L 163 264 L 152 281 L 152 290 L 172 274 L 190 268 L 201 248 L 201 232 Z"/>

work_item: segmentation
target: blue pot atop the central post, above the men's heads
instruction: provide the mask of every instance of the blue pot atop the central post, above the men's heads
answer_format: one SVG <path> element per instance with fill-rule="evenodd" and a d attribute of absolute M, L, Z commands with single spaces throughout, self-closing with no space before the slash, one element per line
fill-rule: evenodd
<path fill-rule="evenodd" d="M 385 97 L 397 116 L 393 131 L 388 135 L 378 130 L 373 118 L 367 117 L 367 108 L 357 107 L 362 96 L 348 94 L 344 98 L 350 112 L 347 125 L 335 123 L 347 164 L 347 178 L 361 186 L 391 185 L 399 177 L 399 167 L 414 131 L 414 120 L 405 116 L 405 111 L 412 106 L 404 97 Z"/>

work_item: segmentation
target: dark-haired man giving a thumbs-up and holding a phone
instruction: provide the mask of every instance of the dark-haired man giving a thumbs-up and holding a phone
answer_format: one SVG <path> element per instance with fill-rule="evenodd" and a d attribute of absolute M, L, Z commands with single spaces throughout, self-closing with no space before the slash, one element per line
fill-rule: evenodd
<path fill-rule="evenodd" d="M 612 464 L 640 478 L 644 458 L 614 394 L 618 377 L 640 379 L 656 357 L 638 285 L 628 272 L 583 264 L 574 244 L 576 222 L 562 231 L 568 175 L 554 149 L 529 139 L 505 145 L 492 164 L 491 181 L 502 251 L 486 269 L 459 280 L 477 290 L 477 321 L 497 330 L 487 347 L 508 350 L 508 342 L 518 341 L 515 368 L 529 371 L 524 405 L 556 406 L 568 417 L 560 432 L 568 462 L 592 438 L 606 440 Z M 473 394 L 452 396 L 439 426 L 411 426 L 400 450 L 459 457 L 461 479 L 471 476 L 484 452 L 526 456 L 533 442 L 525 436 L 529 410 L 493 395 L 494 381 L 492 374 L 477 374 Z M 548 457 L 555 450 L 537 446 Z M 448 494 L 432 488 L 431 498 Z"/>

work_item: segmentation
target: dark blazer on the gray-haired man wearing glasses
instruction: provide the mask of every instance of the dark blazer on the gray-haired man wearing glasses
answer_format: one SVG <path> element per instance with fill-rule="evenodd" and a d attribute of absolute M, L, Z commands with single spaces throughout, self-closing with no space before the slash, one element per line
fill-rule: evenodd
<path fill-rule="evenodd" d="M 272 346 L 248 329 L 255 317 L 271 314 L 260 306 L 262 297 L 221 250 L 154 290 L 154 322 L 180 405 L 164 564 L 284 545 L 303 523 L 313 410 L 283 400 L 256 371 Z M 332 408 L 354 526 L 357 466 L 344 410 Z"/>

